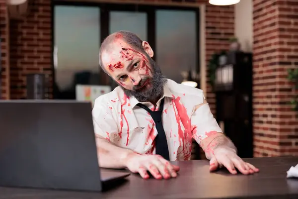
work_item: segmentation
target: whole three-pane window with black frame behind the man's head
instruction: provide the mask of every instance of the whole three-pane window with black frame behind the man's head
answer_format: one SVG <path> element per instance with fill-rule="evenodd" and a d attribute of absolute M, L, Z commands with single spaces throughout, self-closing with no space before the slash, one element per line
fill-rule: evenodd
<path fill-rule="evenodd" d="M 57 2 L 54 5 L 54 74 L 58 99 L 75 99 L 76 84 L 111 85 L 100 74 L 98 50 L 110 33 L 128 30 L 149 42 L 167 78 L 199 72 L 199 8 Z M 54 87 L 55 88 L 55 87 Z"/>

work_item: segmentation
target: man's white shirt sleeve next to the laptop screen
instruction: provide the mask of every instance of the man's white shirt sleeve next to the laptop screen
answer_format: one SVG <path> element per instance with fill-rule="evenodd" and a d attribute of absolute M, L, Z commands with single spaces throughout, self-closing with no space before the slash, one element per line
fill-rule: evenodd
<path fill-rule="evenodd" d="M 92 109 L 94 133 L 98 137 L 115 142 L 118 135 L 114 107 L 102 98 L 97 98 Z"/>

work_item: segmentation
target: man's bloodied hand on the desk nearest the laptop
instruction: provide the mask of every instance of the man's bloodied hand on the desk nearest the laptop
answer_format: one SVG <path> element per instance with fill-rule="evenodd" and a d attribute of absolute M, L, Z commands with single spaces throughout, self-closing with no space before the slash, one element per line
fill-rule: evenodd
<path fill-rule="evenodd" d="M 155 179 L 175 178 L 180 169 L 160 155 L 141 155 L 137 153 L 129 154 L 126 157 L 125 165 L 131 172 L 139 173 L 144 179 L 149 179 L 148 171 Z"/>

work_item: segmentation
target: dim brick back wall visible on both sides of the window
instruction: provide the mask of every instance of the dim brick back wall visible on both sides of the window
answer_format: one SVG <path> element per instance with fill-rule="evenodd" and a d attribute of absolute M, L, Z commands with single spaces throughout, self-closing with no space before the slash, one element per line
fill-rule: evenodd
<path fill-rule="evenodd" d="M 131 1 L 132 2 L 132 1 Z M 138 2 L 138 1 L 136 1 Z M 157 1 L 154 1 L 157 2 Z M 167 4 L 164 0 L 160 3 Z M 150 2 L 149 2 L 150 3 Z M 171 3 L 171 1 L 168 1 Z M 228 48 L 228 38 L 234 31 L 234 6 L 213 6 L 207 0 L 188 4 L 206 6 L 206 60 L 216 50 Z M 175 2 L 179 5 L 179 2 Z M 185 2 L 181 4 L 185 5 Z M 49 0 L 35 0 L 24 20 L 10 20 L 10 95 L 11 99 L 25 98 L 26 74 L 51 72 L 51 6 Z M 207 98 L 215 113 L 215 95 L 210 86 Z"/>

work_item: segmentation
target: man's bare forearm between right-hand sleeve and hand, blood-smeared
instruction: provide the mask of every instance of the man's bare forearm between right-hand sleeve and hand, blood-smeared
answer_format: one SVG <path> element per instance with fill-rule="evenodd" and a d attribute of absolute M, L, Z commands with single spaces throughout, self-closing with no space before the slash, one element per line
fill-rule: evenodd
<path fill-rule="evenodd" d="M 220 135 L 220 136 L 215 137 L 207 145 L 206 149 L 203 148 L 204 152 L 206 154 L 206 158 L 210 160 L 214 156 L 214 150 L 219 147 L 228 148 L 230 150 L 233 150 L 235 153 L 237 153 L 237 149 L 236 149 L 235 145 L 233 144 L 233 142 L 226 136 Z"/>

